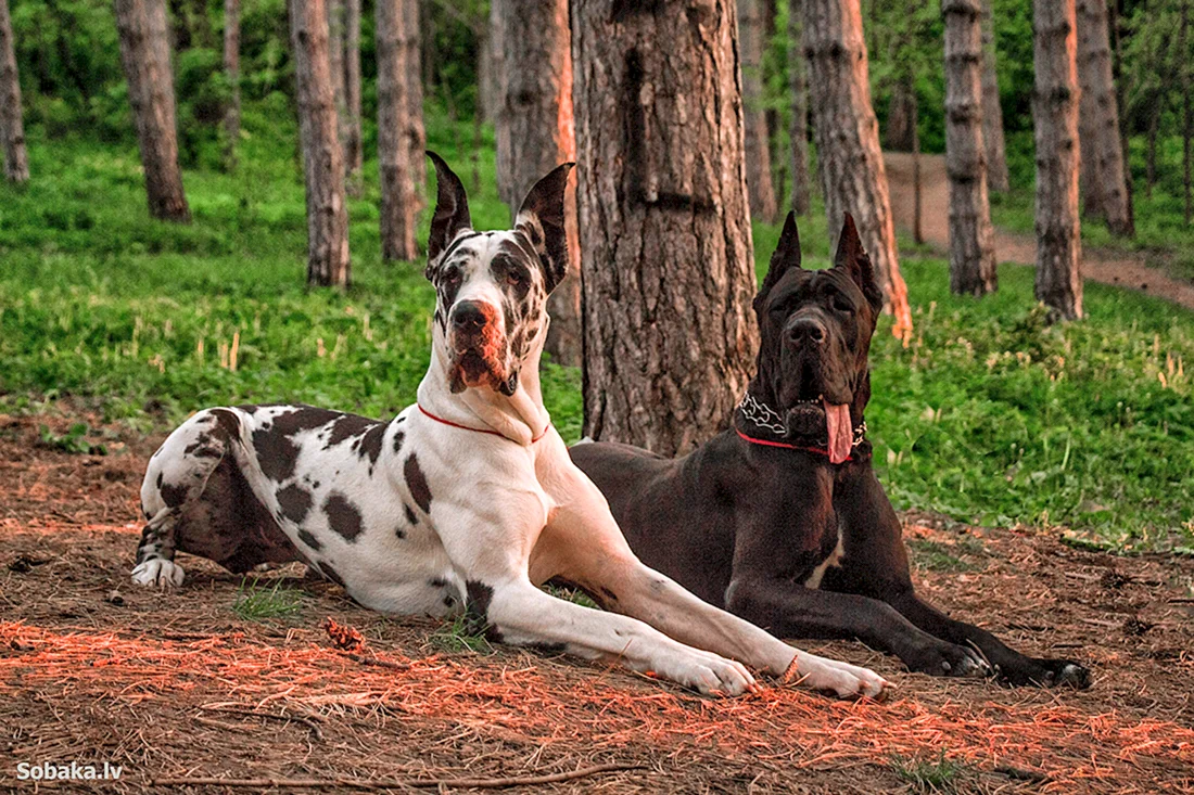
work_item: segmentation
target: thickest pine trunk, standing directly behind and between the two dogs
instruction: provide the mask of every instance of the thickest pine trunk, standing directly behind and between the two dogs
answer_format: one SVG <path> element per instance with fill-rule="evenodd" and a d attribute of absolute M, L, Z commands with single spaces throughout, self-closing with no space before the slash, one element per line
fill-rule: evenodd
<path fill-rule="evenodd" d="M 732 0 L 573 0 L 585 433 L 666 456 L 753 369 Z"/>

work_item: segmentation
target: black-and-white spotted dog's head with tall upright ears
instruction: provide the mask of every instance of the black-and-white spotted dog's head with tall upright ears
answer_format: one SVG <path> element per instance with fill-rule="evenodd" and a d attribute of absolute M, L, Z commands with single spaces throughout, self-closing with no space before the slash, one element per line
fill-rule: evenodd
<path fill-rule="evenodd" d="M 454 393 L 518 388 L 523 359 L 547 333 L 547 296 L 567 273 L 564 189 L 573 164 L 538 180 L 509 232 L 474 232 L 460 178 L 439 155 L 426 276 L 436 285 L 435 322 L 449 355 Z"/>

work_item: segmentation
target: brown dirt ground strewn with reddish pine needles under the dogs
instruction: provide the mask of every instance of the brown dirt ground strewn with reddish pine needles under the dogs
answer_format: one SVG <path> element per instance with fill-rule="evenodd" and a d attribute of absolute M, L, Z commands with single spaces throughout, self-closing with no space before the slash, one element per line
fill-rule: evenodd
<path fill-rule="evenodd" d="M 297 565 L 263 575 L 304 593 L 284 620 L 239 618 L 241 578 L 196 559 L 181 590 L 135 590 L 137 491 L 160 439 L 106 429 L 109 455 L 67 454 L 38 443 L 42 423 L 62 433 L 70 419 L 0 415 L 0 791 L 32 789 L 18 763 L 72 760 L 124 772 L 41 788 L 269 789 L 161 783 L 233 777 L 458 791 L 451 781 L 622 765 L 512 789 L 929 791 L 900 769 L 944 754 L 958 772 L 942 791 L 1194 793 L 1194 560 L 909 516 L 931 600 L 1029 652 L 1085 661 L 1094 686 L 933 679 L 858 643 L 811 642 L 875 667 L 894 696 L 702 698 L 564 658 L 444 652 L 437 624 L 365 611 Z M 336 648 L 325 617 L 365 647 Z"/>

